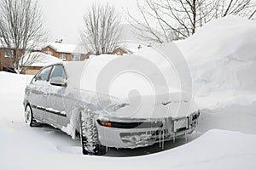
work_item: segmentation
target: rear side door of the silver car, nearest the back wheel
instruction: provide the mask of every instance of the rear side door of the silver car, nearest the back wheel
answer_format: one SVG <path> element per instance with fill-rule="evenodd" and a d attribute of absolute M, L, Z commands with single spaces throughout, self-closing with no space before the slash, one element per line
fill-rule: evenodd
<path fill-rule="evenodd" d="M 52 66 L 46 67 L 39 71 L 30 84 L 29 103 L 32 106 L 33 115 L 36 119 L 48 120 L 45 112 L 47 88 L 49 86 L 49 75 Z"/>

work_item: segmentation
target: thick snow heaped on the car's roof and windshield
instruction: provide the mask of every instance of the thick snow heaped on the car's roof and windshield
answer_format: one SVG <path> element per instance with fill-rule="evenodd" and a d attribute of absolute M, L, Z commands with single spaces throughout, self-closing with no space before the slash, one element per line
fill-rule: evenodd
<path fill-rule="evenodd" d="M 133 89 L 145 95 L 179 89 L 175 69 L 162 63 L 166 60 L 153 53 L 154 49 L 145 50 L 149 52 L 124 56 L 102 54 L 80 62 L 66 61 L 68 82 L 73 88 L 118 97 L 126 97 Z"/>

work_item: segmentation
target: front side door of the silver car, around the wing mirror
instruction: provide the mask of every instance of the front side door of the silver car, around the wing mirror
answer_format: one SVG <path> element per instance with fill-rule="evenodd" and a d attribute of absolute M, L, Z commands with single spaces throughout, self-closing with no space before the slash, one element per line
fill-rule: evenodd
<path fill-rule="evenodd" d="M 49 79 L 51 80 L 56 77 L 62 78 L 64 81 L 67 80 L 63 65 L 54 65 Z M 50 84 L 49 86 L 47 107 L 51 111 L 51 121 L 57 126 L 66 127 L 68 122 L 65 105 L 67 88 L 56 84 Z"/>

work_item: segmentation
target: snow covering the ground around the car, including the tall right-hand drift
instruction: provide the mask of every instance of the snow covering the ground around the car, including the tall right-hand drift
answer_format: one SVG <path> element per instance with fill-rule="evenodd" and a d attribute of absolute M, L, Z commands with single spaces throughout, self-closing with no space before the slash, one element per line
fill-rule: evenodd
<path fill-rule="evenodd" d="M 26 126 L 22 99 L 31 77 L 0 72 L 0 169 L 255 169 L 255 26 L 230 17 L 177 42 L 189 60 L 201 117 L 197 133 L 167 142 L 165 150 L 154 144 L 83 156 L 66 133 Z"/>

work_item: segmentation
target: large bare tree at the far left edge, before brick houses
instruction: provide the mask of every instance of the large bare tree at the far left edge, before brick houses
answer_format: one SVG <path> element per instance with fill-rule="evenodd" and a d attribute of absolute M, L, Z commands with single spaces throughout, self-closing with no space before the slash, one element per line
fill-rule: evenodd
<path fill-rule="evenodd" d="M 36 58 L 30 55 L 43 42 L 45 32 L 38 3 L 32 0 L 1 0 L 0 43 L 11 50 L 11 64 L 21 71 Z M 25 57 L 26 55 L 26 57 Z"/>

